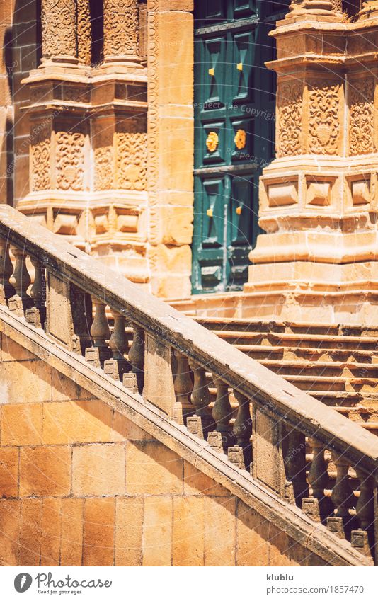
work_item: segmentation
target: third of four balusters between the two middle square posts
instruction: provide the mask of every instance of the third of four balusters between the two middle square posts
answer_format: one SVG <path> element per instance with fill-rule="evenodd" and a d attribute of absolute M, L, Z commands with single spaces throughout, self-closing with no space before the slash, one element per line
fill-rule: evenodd
<path fill-rule="evenodd" d="M 232 415 L 229 387 L 217 376 L 213 376 L 212 379 L 217 387 L 217 398 L 212 409 L 215 431 L 209 434 L 207 442 L 218 452 L 227 452 L 227 449 L 234 444 L 234 434 L 229 423 Z"/>

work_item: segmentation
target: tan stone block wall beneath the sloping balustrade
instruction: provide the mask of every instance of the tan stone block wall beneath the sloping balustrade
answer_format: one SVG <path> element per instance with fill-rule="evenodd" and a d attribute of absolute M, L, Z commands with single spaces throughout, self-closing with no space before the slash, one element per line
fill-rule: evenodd
<path fill-rule="evenodd" d="M 0 382 L 1 565 L 319 565 L 4 334 Z"/>

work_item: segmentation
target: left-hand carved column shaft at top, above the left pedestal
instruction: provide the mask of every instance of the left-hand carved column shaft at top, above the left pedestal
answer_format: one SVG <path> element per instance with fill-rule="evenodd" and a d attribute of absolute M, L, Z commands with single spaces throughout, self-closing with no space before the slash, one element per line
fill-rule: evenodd
<path fill-rule="evenodd" d="M 42 0 L 42 55 L 76 57 L 75 0 Z"/>

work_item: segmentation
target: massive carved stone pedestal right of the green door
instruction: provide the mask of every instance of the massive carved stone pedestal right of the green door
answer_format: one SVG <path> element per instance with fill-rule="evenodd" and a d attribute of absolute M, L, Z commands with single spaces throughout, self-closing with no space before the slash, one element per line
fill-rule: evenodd
<path fill-rule="evenodd" d="M 312 3 L 308 3 L 312 4 Z M 302 12 L 301 12 L 302 11 Z M 378 21 L 277 23 L 276 156 L 244 292 L 256 316 L 378 318 Z M 325 16 L 324 16 L 325 17 Z"/>

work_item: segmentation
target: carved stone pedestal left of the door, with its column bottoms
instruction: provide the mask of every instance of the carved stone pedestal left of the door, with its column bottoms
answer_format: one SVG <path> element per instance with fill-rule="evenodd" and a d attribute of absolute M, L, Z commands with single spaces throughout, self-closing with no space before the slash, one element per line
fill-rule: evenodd
<path fill-rule="evenodd" d="M 42 0 L 30 100 L 30 189 L 18 209 L 134 282 L 147 264 L 147 74 L 137 0 L 104 3 L 103 63 L 89 0 Z"/>

